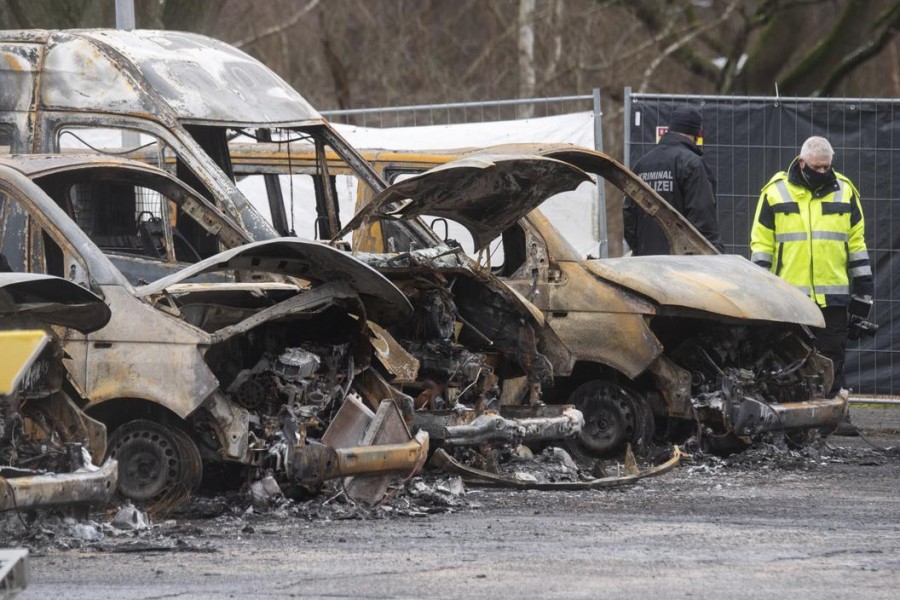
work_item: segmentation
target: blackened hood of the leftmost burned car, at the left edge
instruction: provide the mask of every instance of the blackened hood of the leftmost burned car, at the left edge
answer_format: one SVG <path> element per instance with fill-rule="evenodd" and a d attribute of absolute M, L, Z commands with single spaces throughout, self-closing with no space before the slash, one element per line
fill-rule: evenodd
<path fill-rule="evenodd" d="M 0 315 L 28 313 L 41 321 L 90 333 L 112 313 L 90 290 L 52 275 L 0 273 Z"/>

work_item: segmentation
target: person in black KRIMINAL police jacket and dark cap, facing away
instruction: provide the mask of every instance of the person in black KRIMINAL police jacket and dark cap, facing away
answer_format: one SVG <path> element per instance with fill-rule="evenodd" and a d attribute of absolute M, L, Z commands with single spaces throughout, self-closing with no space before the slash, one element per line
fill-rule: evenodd
<path fill-rule="evenodd" d="M 679 106 L 672 113 L 669 130 L 632 170 L 721 252 L 715 179 L 697 146 L 702 124 L 699 110 Z M 622 217 L 632 254 L 669 254 L 662 228 L 629 197 L 623 202 Z"/>

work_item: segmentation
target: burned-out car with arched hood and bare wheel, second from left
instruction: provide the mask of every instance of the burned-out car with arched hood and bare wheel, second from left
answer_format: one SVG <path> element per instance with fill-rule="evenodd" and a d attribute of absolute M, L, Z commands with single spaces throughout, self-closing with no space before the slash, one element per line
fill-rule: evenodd
<path fill-rule="evenodd" d="M 369 368 L 369 320 L 412 309 L 370 267 L 318 242 L 249 242 L 197 192 L 125 159 L 0 158 L 0 191 L 12 269 L 65 276 L 109 305 L 104 327 L 60 338 L 73 392 L 110 432 L 122 496 L 177 502 L 204 465 L 300 492 L 424 462 L 427 435 L 409 434 L 404 396 Z M 194 256 L 207 237 L 227 249 Z"/>

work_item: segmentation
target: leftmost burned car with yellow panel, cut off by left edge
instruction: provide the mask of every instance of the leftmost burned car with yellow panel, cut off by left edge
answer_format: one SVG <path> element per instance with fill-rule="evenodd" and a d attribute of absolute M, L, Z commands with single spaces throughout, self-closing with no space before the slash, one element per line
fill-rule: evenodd
<path fill-rule="evenodd" d="M 67 392 L 49 326 L 90 333 L 109 318 L 103 300 L 74 283 L 0 272 L 0 511 L 112 497 L 118 470 L 114 459 L 103 461 L 106 428 Z"/>

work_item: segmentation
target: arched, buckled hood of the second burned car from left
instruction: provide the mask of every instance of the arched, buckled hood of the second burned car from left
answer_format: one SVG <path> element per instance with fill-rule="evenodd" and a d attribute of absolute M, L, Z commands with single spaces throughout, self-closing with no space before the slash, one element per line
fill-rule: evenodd
<path fill-rule="evenodd" d="M 349 254 L 309 240 L 277 238 L 220 252 L 196 264 L 139 287 L 150 296 L 209 271 L 235 270 L 298 277 L 312 283 L 344 282 L 366 305 L 369 319 L 382 325 L 409 319 L 413 309 L 393 283 Z"/>

